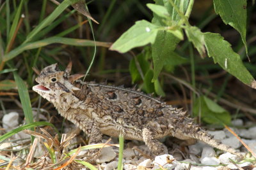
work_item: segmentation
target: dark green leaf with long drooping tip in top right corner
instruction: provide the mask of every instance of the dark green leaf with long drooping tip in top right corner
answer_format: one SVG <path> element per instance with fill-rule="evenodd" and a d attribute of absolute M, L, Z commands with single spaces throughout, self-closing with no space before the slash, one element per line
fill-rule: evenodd
<path fill-rule="evenodd" d="M 248 53 L 246 45 L 246 0 L 214 0 L 214 10 L 220 15 L 225 24 L 231 25 L 240 34 Z"/>

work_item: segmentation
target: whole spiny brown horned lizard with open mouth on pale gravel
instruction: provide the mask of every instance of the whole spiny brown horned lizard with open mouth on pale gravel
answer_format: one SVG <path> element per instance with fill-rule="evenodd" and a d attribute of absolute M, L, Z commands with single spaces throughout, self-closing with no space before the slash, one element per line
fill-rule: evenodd
<path fill-rule="evenodd" d="M 58 112 L 90 138 L 101 143 L 102 134 L 144 141 L 151 155 L 163 153 L 159 138 L 198 139 L 220 150 L 241 156 L 230 146 L 213 139 L 193 118 L 180 109 L 132 89 L 94 82 L 82 82 L 83 75 L 70 75 L 71 62 L 65 71 L 57 64 L 45 67 L 33 90 L 54 104 Z"/>

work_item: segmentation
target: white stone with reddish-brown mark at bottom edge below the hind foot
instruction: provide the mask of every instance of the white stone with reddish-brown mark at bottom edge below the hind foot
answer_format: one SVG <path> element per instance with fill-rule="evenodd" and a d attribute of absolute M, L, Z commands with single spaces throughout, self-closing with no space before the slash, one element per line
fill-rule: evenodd
<path fill-rule="evenodd" d="M 170 164 L 168 164 L 169 162 Z M 161 165 L 166 169 L 173 169 L 175 166 L 177 166 L 177 160 L 175 160 L 172 155 L 168 155 L 168 154 L 159 155 L 155 158 L 154 165 L 155 166 Z"/>

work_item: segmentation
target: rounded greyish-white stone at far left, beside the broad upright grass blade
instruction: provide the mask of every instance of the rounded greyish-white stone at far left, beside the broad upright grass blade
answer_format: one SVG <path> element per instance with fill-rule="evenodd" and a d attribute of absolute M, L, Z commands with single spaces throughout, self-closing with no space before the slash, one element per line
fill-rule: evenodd
<path fill-rule="evenodd" d="M 3 128 L 6 132 L 12 131 L 15 127 L 19 125 L 19 113 L 10 112 L 3 116 Z"/>

